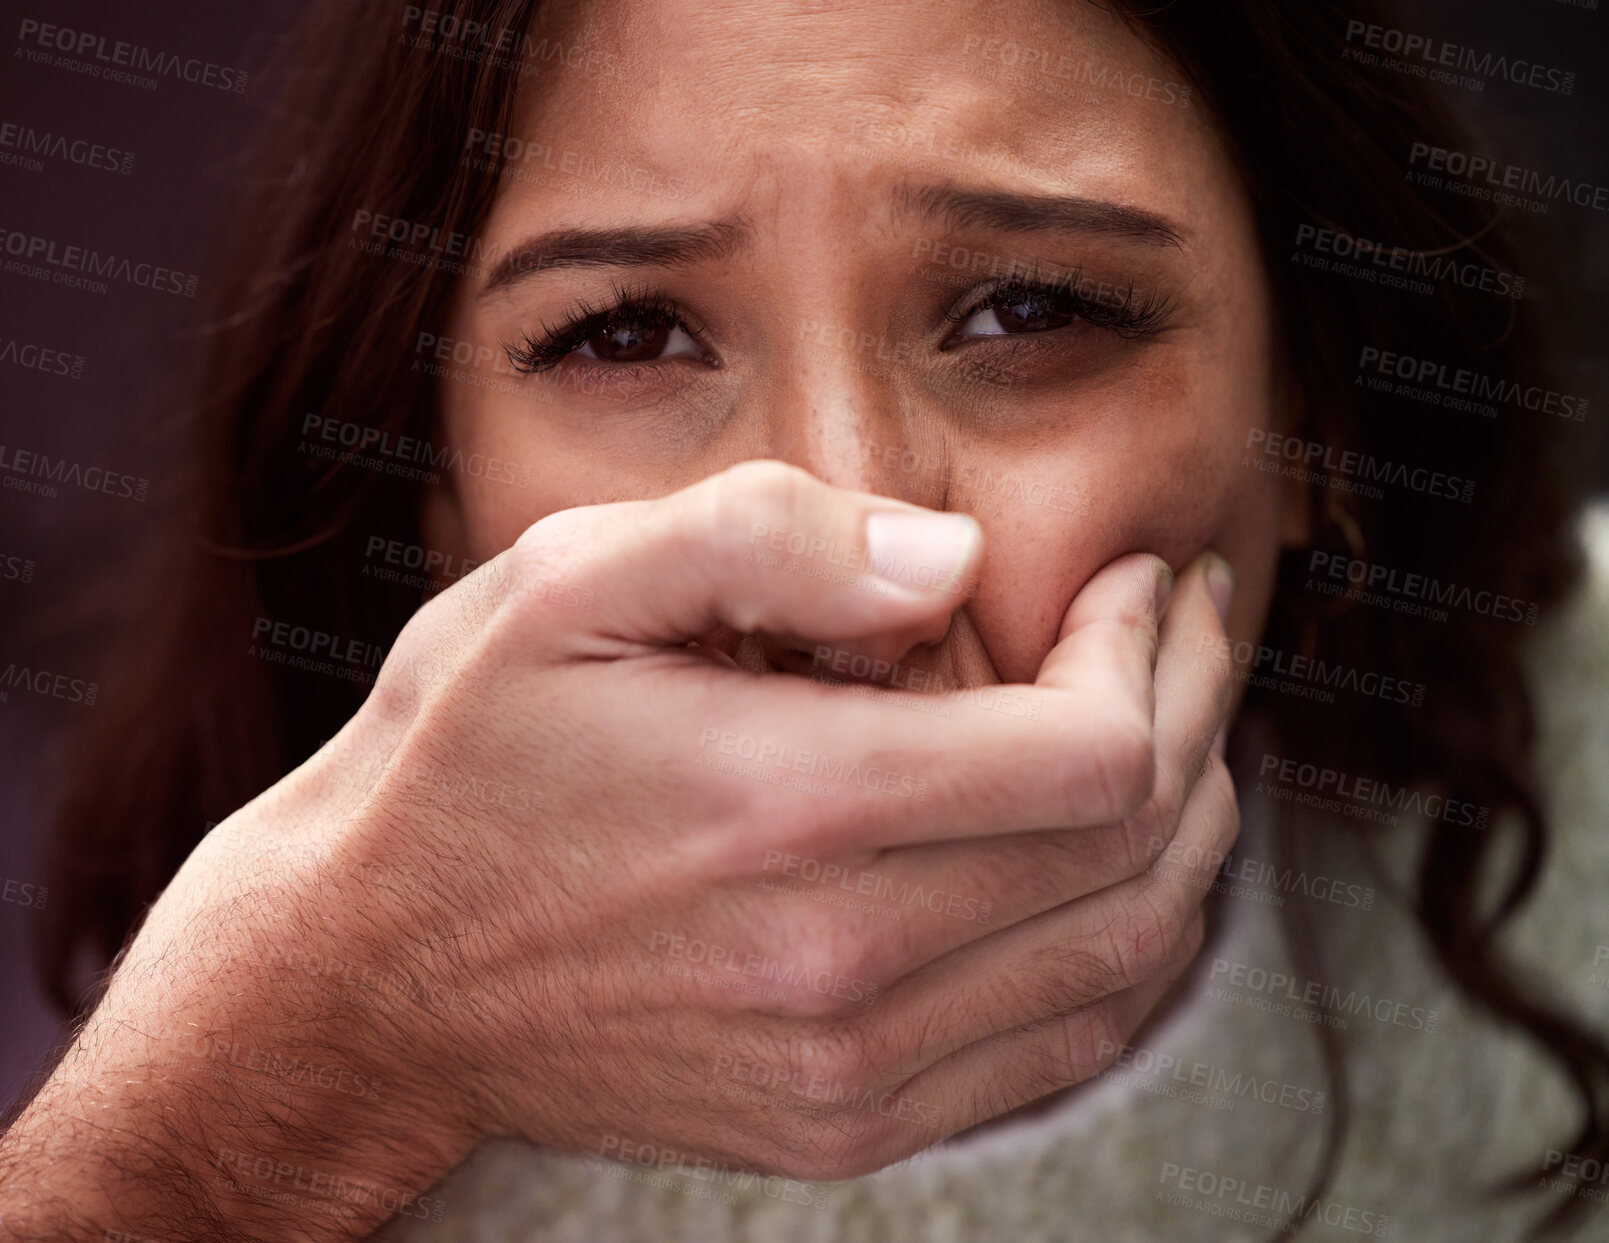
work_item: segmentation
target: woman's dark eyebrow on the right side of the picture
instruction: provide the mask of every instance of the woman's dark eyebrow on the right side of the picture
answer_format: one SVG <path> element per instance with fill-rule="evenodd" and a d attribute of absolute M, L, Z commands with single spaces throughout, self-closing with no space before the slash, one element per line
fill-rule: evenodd
<path fill-rule="evenodd" d="M 970 190 L 951 182 L 899 185 L 895 211 L 919 215 L 961 232 L 990 228 L 1001 233 L 1107 233 L 1154 246 L 1184 249 L 1186 230 L 1157 212 L 1125 207 L 1076 195 L 1028 195 L 1009 190 Z"/>

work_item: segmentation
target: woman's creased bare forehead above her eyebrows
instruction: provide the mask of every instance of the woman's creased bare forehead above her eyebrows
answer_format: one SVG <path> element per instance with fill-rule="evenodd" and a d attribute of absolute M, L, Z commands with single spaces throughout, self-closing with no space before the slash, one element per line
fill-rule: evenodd
<path fill-rule="evenodd" d="M 505 193 L 574 196 L 566 175 L 618 161 L 706 209 L 737 188 L 748 211 L 809 187 L 866 203 L 925 172 L 1183 217 L 1232 177 L 1179 69 L 1086 0 L 565 0 L 521 53 L 510 130 L 557 175 Z"/>

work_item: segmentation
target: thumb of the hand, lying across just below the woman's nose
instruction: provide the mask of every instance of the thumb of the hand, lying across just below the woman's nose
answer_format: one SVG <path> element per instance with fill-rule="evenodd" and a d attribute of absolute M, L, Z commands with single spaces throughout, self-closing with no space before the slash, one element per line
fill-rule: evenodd
<path fill-rule="evenodd" d="M 508 590 L 537 595 L 550 643 L 685 645 L 721 627 L 796 643 L 941 635 L 970 598 L 983 531 L 782 462 L 745 462 L 658 500 L 562 510 L 510 550 Z M 566 592 L 533 592 L 533 584 Z M 584 609 L 565 600 L 584 598 Z"/>

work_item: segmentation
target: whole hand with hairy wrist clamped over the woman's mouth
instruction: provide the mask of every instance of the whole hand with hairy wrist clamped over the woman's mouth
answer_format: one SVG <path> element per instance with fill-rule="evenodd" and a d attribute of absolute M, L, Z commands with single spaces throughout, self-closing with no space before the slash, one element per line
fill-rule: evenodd
<path fill-rule="evenodd" d="M 496 1135 L 843 1179 L 1101 1069 L 1200 944 L 1212 864 L 1154 839 L 1237 831 L 1221 558 L 1096 572 L 1020 714 L 703 642 L 935 642 L 981 544 L 779 462 L 533 524 L 185 862 L 0 1145 L 0 1237 L 357 1238 Z"/>

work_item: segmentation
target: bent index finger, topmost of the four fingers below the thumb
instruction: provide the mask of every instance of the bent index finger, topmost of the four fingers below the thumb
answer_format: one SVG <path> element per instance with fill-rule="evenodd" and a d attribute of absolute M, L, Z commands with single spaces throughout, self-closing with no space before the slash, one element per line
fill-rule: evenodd
<path fill-rule="evenodd" d="M 1170 585 L 1149 555 L 1099 571 L 1031 687 L 935 696 L 697 663 L 721 682 L 685 717 L 705 722 L 692 749 L 716 772 L 711 757 L 730 761 L 734 786 L 763 806 L 772 831 L 751 835 L 755 851 L 788 838 L 830 855 L 1121 820 L 1152 788 L 1157 616 Z M 940 716 L 935 701 L 953 711 Z M 769 785 L 779 773 L 788 780 Z"/>

